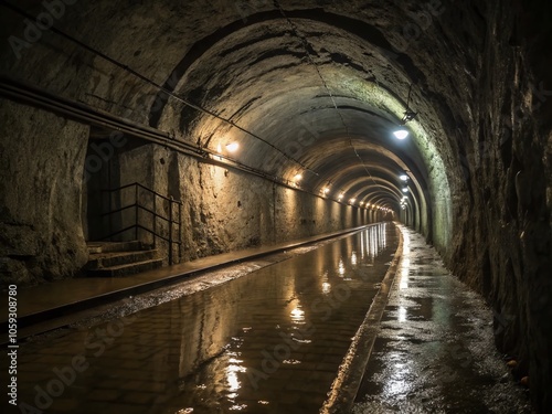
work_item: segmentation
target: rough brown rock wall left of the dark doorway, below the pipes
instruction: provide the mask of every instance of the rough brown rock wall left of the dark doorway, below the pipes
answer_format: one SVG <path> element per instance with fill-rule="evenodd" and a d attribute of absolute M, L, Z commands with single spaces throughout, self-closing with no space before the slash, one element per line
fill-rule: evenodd
<path fill-rule="evenodd" d="M 87 259 L 81 181 L 88 128 L 4 99 L 0 119 L 2 284 L 67 277 Z"/>

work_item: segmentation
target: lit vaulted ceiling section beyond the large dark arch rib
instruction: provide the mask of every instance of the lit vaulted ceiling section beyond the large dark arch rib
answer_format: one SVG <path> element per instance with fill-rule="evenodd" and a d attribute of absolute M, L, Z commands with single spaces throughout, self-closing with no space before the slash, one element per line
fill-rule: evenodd
<path fill-rule="evenodd" d="M 346 191 L 359 180 L 371 189 L 368 183 L 379 173 L 374 166 L 391 161 L 390 187 L 380 189 L 395 199 L 401 183 L 389 176 L 406 170 L 422 193 L 427 159 L 420 147 L 431 146 L 424 128 L 411 128 L 413 139 L 405 141 L 392 136 L 415 79 L 368 34 L 385 43 L 367 23 L 319 10 L 272 11 L 232 23 L 200 40 L 193 59 L 187 55 L 178 66 L 178 84 L 172 81 L 178 96 L 230 123 L 174 99 L 150 121 L 179 128 L 212 150 L 237 141 L 241 162 L 286 180 L 301 173 L 301 187 L 315 192 L 323 182 L 339 182 Z M 410 106 L 420 118 L 435 118 L 433 108 L 413 96 Z"/>

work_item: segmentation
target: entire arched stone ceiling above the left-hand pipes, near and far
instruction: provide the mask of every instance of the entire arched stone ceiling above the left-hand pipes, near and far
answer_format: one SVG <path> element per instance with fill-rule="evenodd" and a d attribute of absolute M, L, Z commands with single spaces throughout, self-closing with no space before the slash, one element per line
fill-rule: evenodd
<path fill-rule="evenodd" d="M 38 10 L 30 1 L 21 7 Z M 116 82 L 100 91 L 94 76 L 86 79 L 85 65 L 79 84 L 61 86 L 56 75 L 71 70 L 63 64 L 57 73 L 36 72 L 34 81 L 212 151 L 237 141 L 241 150 L 232 158 L 285 180 L 301 172 L 309 191 L 333 182 L 362 197 L 383 191 L 396 200 L 401 183 L 393 176 L 406 170 L 415 195 L 431 198 L 436 187 L 448 189 L 442 158 L 454 157 L 445 126 L 466 116 L 437 98 L 444 89 L 467 91 L 474 66 L 469 56 L 450 53 L 436 19 L 445 11 L 440 2 L 415 1 L 78 3 L 67 7 L 60 29 L 102 53 L 66 39 L 61 49 L 71 60 L 104 67 Z M 418 28 L 426 44 L 408 47 L 404 42 L 417 39 L 405 39 L 401 28 L 416 15 L 428 21 Z M 23 72 L 32 63 L 26 60 Z M 17 73 L 20 64 L 3 67 Z M 444 75 L 445 65 L 464 76 Z M 418 115 L 407 124 L 411 138 L 397 141 L 392 131 L 410 91 L 410 107 Z M 378 179 L 388 184 L 374 188 Z"/>

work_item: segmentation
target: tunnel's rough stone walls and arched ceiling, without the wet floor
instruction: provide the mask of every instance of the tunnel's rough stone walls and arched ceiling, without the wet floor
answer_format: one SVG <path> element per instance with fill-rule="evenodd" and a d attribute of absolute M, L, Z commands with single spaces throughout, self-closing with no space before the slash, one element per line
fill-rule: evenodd
<path fill-rule="evenodd" d="M 549 2 L 0 12 L 6 301 L 395 223 L 485 301 L 509 381 L 550 411 Z M 94 262 L 117 243 L 140 246 L 135 267 Z"/>

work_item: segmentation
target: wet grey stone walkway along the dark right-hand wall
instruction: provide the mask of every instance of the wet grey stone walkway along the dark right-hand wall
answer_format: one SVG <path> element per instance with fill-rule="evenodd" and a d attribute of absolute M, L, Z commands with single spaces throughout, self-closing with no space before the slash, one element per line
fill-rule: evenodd
<path fill-rule="evenodd" d="M 530 413 L 492 339 L 492 311 L 402 227 L 403 257 L 354 414 Z"/>

